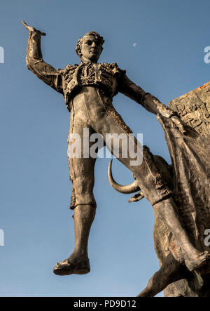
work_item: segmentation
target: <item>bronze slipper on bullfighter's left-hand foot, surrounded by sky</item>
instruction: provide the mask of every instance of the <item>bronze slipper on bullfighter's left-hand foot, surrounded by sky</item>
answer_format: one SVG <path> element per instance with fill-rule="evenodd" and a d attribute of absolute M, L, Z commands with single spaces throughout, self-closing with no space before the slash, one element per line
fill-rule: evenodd
<path fill-rule="evenodd" d="M 65 259 L 55 265 L 53 272 L 57 275 L 86 274 L 90 272 L 90 262 L 86 259 L 79 263 L 70 263 Z"/>

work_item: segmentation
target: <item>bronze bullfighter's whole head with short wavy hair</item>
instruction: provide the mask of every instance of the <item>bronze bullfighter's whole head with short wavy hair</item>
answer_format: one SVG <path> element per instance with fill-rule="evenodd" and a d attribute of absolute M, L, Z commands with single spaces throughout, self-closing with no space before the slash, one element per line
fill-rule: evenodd
<path fill-rule="evenodd" d="M 97 62 L 103 50 L 104 39 L 97 32 L 87 32 L 78 39 L 76 53 L 82 62 Z"/>

